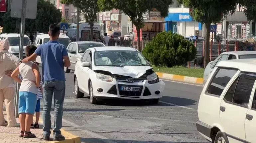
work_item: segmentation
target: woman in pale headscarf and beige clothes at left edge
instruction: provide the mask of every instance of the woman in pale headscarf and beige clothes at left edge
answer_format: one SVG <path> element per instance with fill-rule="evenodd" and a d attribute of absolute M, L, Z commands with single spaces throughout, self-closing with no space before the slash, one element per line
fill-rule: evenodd
<path fill-rule="evenodd" d="M 8 127 L 19 127 L 14 116 L 14 81 L 10 77 L 12 72 L 19 65 L 19 58 L 8 53 L 10 43 L 7 39 L 0 41 L 0 126 L 5 126 L 3 115 L 3 102 L 6 107 Z"/>

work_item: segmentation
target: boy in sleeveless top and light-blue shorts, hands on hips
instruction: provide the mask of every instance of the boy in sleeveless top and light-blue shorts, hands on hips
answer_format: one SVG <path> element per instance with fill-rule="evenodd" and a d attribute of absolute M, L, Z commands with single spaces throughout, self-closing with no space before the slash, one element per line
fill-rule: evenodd
<path fill-rule="evenodd" d="M 28 45 L 26 56 L 30 56 L 36 51 L 37 47 Z M 18 77 L 19 74 L 23 78 Z M 33 116 L 37 104 L 37 91 L 40 87 L 40 72 L 38 65 L 33 62 L 20 63 L 13 71 L 11 77 L 21 83 L 19 90 L 19 119 L 21 125 L 20 137 L 35 138 L 35 134 L 30 132 L 30 125 L 33 123 Z"/>

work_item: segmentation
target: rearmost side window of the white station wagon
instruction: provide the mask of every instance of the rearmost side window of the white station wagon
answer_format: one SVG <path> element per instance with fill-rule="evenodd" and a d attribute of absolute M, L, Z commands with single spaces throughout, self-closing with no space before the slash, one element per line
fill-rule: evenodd
<path fill-rule="evenodd" d="M 215 96 L 220 96 L 223 89 L 226 87 L 226 85 L 236 72 L 237 70 L 235 69 L 219 68 L 210 82 L 207 93 Z"/>

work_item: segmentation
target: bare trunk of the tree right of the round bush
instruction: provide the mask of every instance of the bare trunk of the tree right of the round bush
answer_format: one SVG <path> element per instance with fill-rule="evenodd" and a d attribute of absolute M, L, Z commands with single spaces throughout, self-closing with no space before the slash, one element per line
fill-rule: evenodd
<path fill-rule="evenodd" d="M 206 26 L 206 39 L 205 39 L 205 48 L 204 48 L 204 68 L 209 63 L 209 48 L 210 48 L 210 26 L 211 23 L 205 23 Z"/>

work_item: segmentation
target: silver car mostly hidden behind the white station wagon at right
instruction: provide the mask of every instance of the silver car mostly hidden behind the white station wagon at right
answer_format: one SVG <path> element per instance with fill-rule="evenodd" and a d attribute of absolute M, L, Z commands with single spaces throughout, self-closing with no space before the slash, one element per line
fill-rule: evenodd
<path fill-rule="evenodd" d="M 223 60 L 230 59 L 247 59 L 247 58 L 256 58 L 256 51 L 233 51 L 233 52 L 224 52 L 220 54 L 214 61 L 211 61 L 205 67 L 203 73 L 203 84 L 206 83 L 209 75 L 211 74 L 214 67 L 218 62 Z"/>

